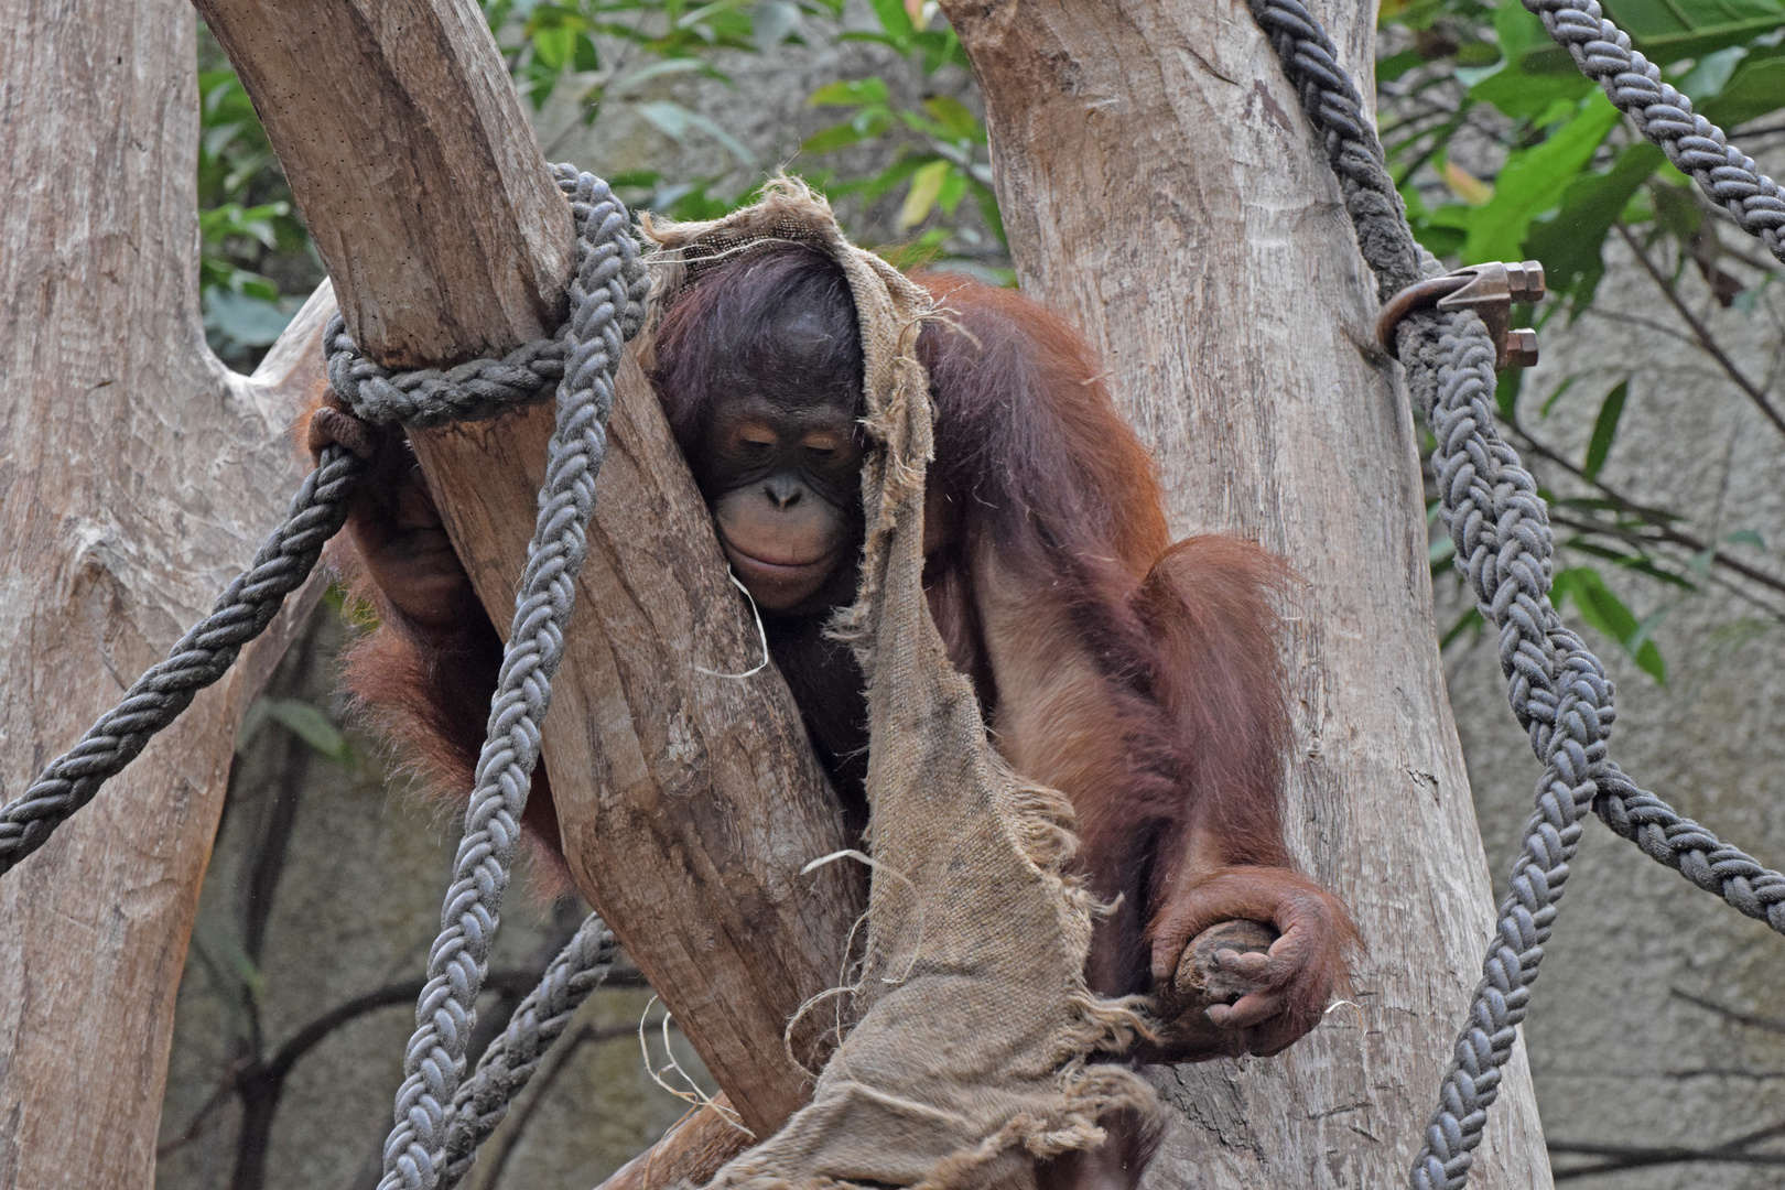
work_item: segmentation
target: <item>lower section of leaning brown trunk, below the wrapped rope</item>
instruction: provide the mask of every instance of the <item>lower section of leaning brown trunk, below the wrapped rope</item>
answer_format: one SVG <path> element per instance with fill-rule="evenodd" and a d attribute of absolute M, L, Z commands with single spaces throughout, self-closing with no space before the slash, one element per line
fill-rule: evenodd
<path fill-rule="evenodd" d="M 503 633 L 544 478 L 550 407 L 416 435 Z M 866 901 L 793 696 L 726 578 L 707 505 L 628 355 L 544 726 L 577 887 L 760 1136 L 807 1094 L 787 1019 L 839 983 Z"/>

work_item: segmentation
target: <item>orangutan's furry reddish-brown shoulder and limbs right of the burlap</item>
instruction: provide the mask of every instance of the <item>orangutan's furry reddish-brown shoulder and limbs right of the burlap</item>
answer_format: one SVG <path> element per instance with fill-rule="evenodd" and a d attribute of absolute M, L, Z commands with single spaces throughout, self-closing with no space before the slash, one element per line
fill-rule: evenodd
<path fill-rule="evenodd" d="M 1153 459 L 1071 326 L 1010 291 L 919 280 L 948 319 L 919 344 L 937 401 L 930 508 L 944 517 L 932 610 L 1005 753 L 1071 796 L 1092 887 L 1121 897 L 1100 928 L 1094 985 L 1137 992 L 1171 976 L 1142 931 L 1175 956 L 1214 921 L 1282 917 L 1301 926 L 1285 949 L 1317 942 L 1298 951 L 1305 978 L 1273 972 L 1299 1037 L 1355 933 L 1282 840 L 1294 733 L 1274 605 L 1289 569 L 1233 537 L 1169 544 Z M 1026 639 L 1005 669 L 1037 649 L 1080 664 L 998 683 L 991 608 Z M 1009 714 L 1025 699 L 1042 705 Z M 1276 1033 L 1260 1045 L 1280 1047 Z"/>

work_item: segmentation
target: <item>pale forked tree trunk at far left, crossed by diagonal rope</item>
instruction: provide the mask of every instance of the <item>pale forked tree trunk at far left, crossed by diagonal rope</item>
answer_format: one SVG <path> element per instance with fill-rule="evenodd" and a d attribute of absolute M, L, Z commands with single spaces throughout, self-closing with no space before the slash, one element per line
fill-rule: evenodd
<path fill-rule="evenodd" d="M 303 475 L 327 291 L 252 376 L 198 314 L 178 0 L 0 16 L 0 801 L 211 608 Z M 241 712 L 318 585 L 0 880 L 0 1188 L 148 1186 Z"/>

